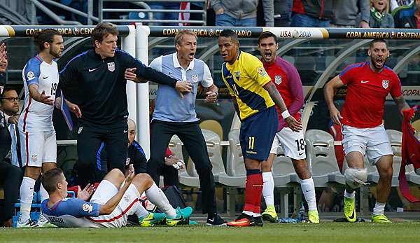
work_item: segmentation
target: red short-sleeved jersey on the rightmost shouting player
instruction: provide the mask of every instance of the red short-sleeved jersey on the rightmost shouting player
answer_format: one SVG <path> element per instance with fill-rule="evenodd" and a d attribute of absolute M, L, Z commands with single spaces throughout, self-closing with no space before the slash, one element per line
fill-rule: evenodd
<path fill-rule="evenodd" d="M 342 123 L 351 127 L 381 125 L 386 96 L 402 95 L 400 79 L 386 66 L 380 73 L 375 73 L 369 62 L 351 64 L 339 74 L 339 78 L 347 85 Z"/>

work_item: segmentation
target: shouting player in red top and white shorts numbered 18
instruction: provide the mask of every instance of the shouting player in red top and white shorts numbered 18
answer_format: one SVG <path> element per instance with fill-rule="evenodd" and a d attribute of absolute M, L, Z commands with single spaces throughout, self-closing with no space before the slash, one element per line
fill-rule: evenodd
<path fill-rule="evenodd" d="M 300 120 L 300 108 L 303 105 L 303 89 L 302 81 L 295 67 L 281 57 L 276 55 L 279 48 L 276 35 L 272 32 L 262 32 L 258 39 L 258 50 L 262 56 L 261 61 L 264 68 L 272 79 L 277 90 L 291 116 L 296 120 Z M 318 210 L 316 208 L 314 180 L 311 177 L 307 162 L 305 160 L 305 143 L 304 132 L 293 132 L 281 116 L 279 107 L 276 106 L 279 113 L 279 125 L 277 133 L 272 143 L 268 160 L 261 163 L 262 180 L 264 187 L 262 195 L 267 204 L 267 209 L 262 213 L 262 218 L 267 221 L 276 222 L 277 214 L 274 209 L 274 179 L 272 175 L 272 165 L 277 153 L 277 148 L 281 146 L 284 155 L 289 157 L 293 162 L 293 167 L 297 176 L 301 179 L 300 186 L 309 206 L 309 221 L 311 223 L 319 223 Z"/>

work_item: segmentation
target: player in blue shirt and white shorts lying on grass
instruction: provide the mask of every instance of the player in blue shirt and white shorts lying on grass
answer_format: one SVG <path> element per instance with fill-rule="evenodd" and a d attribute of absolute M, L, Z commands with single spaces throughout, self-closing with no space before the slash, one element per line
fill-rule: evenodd
<path fill-rule="evenodd" d="M 191 207 L 174 209 L 151 176 L 134 176 L 133 165 L 126 177 L 119 169 L 112 169 L 96 190 L 88 184 L 78 191 L 77 198 L 66 198 L 67 181 L 61 169 L 43 174 L 42 184 L 49 198 L 41 203 L 41 209 L 48 221 L 58 227 L 120 228 L 127 225 L 127 216 L 132 214 L 139 217 L 141 224 L 153 225 L 166 219 L 167 225 L 174 226 L 186 223 L 193 212 Z M 165 214 L 146 211 L 139 202 L 143 192 Z"/>

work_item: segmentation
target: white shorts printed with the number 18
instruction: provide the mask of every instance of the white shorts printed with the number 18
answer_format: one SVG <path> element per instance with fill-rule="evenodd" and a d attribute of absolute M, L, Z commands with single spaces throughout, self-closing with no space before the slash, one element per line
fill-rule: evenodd
<path fill-rule="evenodd" d="M 303 160 L 306 158 L 306 143 L 304 142 L 303 131 L 293 132 L 289 127 L 284 127 L 274 136 L 272 148 L 269 153 L 277 153 L 277 148 L 283 149 L 286 157 L 294 160 Z"/>

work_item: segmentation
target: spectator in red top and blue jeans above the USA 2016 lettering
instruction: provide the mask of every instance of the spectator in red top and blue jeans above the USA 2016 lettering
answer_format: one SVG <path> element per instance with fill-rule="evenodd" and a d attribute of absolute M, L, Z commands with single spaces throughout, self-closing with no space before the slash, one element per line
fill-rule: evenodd
<path fill-rule="evenodd" d="M 294 0 L 290 27 L 329 27 L 332 0 Z"/>

